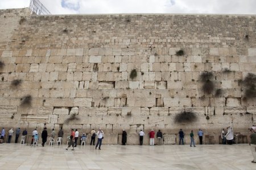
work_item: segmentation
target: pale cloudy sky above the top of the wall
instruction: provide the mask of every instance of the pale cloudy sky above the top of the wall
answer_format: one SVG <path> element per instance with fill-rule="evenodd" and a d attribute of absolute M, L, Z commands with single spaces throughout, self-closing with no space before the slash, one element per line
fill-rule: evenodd
<path fill-rule="evenodd" d="M 39 0 L 51 14 L 256 14 L 256 0 Z M 0 9 L 30 0 L 0 0 Z"/>

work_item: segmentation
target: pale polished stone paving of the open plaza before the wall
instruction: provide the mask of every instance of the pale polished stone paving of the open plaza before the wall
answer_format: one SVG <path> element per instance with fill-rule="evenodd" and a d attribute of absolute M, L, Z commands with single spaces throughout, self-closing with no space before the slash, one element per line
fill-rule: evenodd
<path fill-rule="evenodd" d="M 0 169 L 256 169 L 250 146 L 0 145 Z"/>

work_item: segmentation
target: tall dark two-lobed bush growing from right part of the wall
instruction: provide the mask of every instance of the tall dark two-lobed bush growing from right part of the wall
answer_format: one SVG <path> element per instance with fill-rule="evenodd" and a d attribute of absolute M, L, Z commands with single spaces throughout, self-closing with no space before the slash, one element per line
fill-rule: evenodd
<path fill-rule="evenodd" d="M 211 94 L 214 90 L 214 83 L 212 82 L 213 73 L 206 71 L 200 75 L 200 79 L 204 83 L 202 86 L 202 90 L 206 94 Z"/>

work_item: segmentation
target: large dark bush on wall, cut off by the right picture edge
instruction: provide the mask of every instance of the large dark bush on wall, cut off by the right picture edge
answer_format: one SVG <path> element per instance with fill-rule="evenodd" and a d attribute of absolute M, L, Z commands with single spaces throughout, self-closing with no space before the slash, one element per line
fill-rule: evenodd
<path fill-rule="evenodd" d="M 245 88 L 246 97 L 256 97 L 256 75 L 253 73 L 248 73 L 245 79 L 242 80 L 242 84 Z"/>

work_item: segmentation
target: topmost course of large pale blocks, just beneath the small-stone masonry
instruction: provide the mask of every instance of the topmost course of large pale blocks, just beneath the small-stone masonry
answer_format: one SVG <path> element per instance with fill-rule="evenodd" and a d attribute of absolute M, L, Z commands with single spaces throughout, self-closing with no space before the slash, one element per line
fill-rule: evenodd
<path fill-rule="evenodd" d="M 129 46 L 127 46 L 129 47 Z M 181 48 L 80 48 L 80 49 L 24 49 L 3 50 L 2 57 L 38 57 L 38 56 L 134 56 L 143 52 L 150 55 L 151 52 L 162 56 L 174 56 Z M 148 51 L 148 52 L 147 52 Z M 256 48 L 185 48 L 187 56 L 256 56 Z M 151 54 L 152 55 L 152 54 Z M 153 53 L 154 55 L 154 53 Z M 153 62 L 153 61 L 152 61 Z"/>

